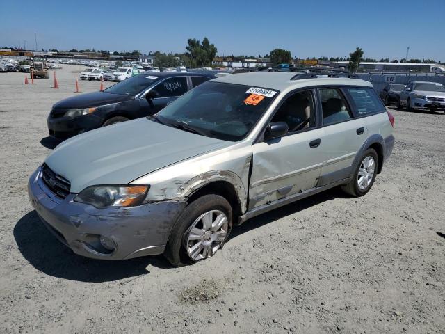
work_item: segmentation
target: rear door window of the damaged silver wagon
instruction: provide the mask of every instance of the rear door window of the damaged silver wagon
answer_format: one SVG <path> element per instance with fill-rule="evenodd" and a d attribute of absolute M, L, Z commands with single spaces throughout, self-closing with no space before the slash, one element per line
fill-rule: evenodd
<path fill-rule="evenodd" d="M 351 118 L 348 104 L 337 88 L 322 88 L 319 90 L 323 106 L 323 125 L 342 122 Z"/>

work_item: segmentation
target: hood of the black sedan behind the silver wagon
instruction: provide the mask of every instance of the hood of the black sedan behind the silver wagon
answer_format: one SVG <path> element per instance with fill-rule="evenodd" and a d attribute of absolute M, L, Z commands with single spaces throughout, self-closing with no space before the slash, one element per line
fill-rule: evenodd
<path fill-rule="evenodd" d="M 129 95 L 111 94 L 105 92 L 93 92 L 73 97 L 54 104 L 54 109 L 70 109 L 70 108 L 87 108 L 89 106 L 102 106 L 104 104 L 117 103 L 131 100 L 133 97 Z"/>

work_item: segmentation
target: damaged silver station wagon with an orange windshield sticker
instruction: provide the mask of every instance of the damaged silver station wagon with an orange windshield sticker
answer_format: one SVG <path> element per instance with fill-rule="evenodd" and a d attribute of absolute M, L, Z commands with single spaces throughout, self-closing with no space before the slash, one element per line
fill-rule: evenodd
<path fill-rule="evenodd" d="M 58 145 L 31 175 L 29 198 L 74 253 L 191 264 L 253 216 L 334 186 L 366 194 L 393 126 L 367 81 L 232 74 L 154 116 Z"/>

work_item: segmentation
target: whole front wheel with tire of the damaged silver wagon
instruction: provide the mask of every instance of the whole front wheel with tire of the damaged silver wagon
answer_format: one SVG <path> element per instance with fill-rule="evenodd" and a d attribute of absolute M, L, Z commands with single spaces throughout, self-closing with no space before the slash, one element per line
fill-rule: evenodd
<path fill-rule="evenodd" d="M 232 207 L 219 195 L 204 195 L 187 205 L 172 229 L 165 257 L 175 267 L 212 257 L 232 228 Z"/>

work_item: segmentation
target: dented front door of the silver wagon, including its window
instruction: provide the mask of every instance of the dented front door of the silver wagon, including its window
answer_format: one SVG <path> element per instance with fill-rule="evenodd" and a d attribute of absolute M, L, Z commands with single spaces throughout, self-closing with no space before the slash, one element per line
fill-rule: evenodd
<path fill-rule="evenodd" d="M 316 186 L 323 166 L 323 155 L 318 152 L 323 129 L 315 128 L 315 107 L 312 90 L 291 94 L 271 120 L 286 122 L 289 132 L 252 145 L 249 209 Z"/>

